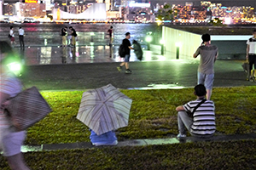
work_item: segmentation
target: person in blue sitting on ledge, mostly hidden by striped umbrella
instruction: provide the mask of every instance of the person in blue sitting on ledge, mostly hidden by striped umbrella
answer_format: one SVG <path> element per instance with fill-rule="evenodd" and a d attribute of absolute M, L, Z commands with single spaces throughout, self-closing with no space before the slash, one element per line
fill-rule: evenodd
<path fill-rule="evenodd" d="M 116 145 L 118 144 L 117 138 L 113 131 L 97 135 L 93 130 L 90 129 L 90 142 L 92 145 Z"/>

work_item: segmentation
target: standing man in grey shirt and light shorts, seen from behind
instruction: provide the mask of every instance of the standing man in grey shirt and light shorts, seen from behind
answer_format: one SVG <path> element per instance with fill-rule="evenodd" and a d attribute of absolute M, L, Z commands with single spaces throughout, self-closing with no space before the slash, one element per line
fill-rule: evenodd
<path fill-rule="evenodd" d="M 196 58 L 201 55 L 200 64 L 197 71 L 197 83 L 204 84 L 207 88 L 207 99 L 211 99 L 212 86 L 214 80 L 214 63 L 218 57 L 218 48 L 211 44 L 211 36 L 209 34 L 203 34 L 201 36 L 202 43 L 199 48 L 196 49 L 193 55 Z"/>

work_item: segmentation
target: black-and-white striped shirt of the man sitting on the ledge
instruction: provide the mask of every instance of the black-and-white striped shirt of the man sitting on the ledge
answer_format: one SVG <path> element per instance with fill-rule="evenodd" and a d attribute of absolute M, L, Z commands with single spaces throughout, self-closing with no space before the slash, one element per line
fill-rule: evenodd
<path fill-rule="evenodd" d="M 201 102 L 201 99 L 189 101 L 183 105 L 185 111 L 192 112 L 196 105 Z M 193 124 L 190 127 L 190 133 L 196 135 L 211 135 L 215 133 L 215 106 L 212 100 L 207 100 L 201 104 L 193 115 Z"/>

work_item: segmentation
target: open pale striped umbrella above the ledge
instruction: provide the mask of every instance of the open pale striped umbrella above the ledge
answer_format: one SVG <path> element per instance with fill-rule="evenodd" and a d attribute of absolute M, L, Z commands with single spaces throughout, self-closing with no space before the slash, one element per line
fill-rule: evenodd
<path fill-rule="evenodd" d="M 79 121 L 97 135 L 126 127 L 128 125 L 132 99 L 108 84 L 84 92 L 79 113 Z"/>

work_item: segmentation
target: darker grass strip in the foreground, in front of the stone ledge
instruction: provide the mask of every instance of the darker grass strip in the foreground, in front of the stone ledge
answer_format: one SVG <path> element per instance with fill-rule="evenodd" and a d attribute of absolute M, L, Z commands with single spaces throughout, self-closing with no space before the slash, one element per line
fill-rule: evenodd
<path fill-rule="evenodd" d="M 32 169 L 255 169 L 256 140 L 104 147 L 25 154 Z M 1 169 L 7 162 L 0 157 Z"/>

